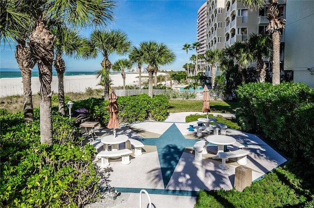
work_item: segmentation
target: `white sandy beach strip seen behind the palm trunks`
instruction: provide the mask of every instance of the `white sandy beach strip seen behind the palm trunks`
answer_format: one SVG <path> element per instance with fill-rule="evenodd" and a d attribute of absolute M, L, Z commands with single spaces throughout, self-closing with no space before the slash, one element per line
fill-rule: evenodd
<path fill-rule="evenodd" d="M 142 73 L 142 82 L 146 81 L 148 79 L 147 77 L 148 73 Z M 111 86 L 123 86 L 123 79 L 121 74 L 110 75 L 110 78 L 112 80 Z M 99 83 L 99 80 L 100 79 L 96 78 L 95 75 L 64 76 L 64 91 L 65 93 L 85 92 L 85 89 L 88 87 L 91 87 L 92 89 L 102 88 L 102 86 L 97 85 Z M 126 74 L 126 85 L 134 84 L 138 84 L 138 74 Z M 58 78 L 56 76 L 52 77 L 51 86 L 52 91 L 54 93 L 58 93 Z M 39 77 L 31 78 L 31 89 L 32 94 L 38 93 L 40 91 Z M 0 96 L 6 97 L 12 95 L 23 95 L 22 78 L 0 78 Z"/>

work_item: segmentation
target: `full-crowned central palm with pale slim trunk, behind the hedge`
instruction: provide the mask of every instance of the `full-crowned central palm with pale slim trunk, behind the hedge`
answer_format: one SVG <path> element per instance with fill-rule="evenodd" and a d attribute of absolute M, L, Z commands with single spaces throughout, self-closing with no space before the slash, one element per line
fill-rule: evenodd
<path fill-rule="evenodd" d="M 153 98 L 153 77 L 159 66 L 172 64 L 176 60 L 176 55 L 165 44 L 158 44 L 155 41 L 140 43 L 140 50 L 143 51 L 145 63 L 148 64 L 148 95 Z"/>

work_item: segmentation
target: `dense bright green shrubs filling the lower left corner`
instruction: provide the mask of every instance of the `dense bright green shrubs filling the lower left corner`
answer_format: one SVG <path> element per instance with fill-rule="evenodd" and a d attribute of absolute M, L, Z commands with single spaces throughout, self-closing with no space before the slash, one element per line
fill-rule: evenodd
<path fill-rule="evenodd" d="M 39 109 L 35 121 L 0 112 L 1 207 L 80 207 L 97 198 L 98 181 L 92 163 L 94 148 L 80 147 L 74 119 L 53 108 L 54 145 L 40 144 Z"/>

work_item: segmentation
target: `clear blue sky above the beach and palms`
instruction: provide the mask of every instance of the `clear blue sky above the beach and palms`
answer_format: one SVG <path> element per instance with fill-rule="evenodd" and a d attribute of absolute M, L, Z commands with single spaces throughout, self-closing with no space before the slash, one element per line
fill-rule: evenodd
<path fill-rule="evenodd" d="M 161 66 L 160 69 L 181 71 L 186 63 L 186 51 L 182 50 L 185 43 L 197 41 L 196 24 L 197 11 L 206 0 L 118 0 L 114 10 L 116 17 L 108 28 L 120 29 L 128 35 L 132 45 L 138 46 L 143 41 L 156 41 L 166 44 L 175 54 L 176 62 Z M 92 29 L 81 31 L 89 37 Z M 0 44 L 0 70 L 18 69 L 14 57 L 15 46 L 12 49 L 6 44 Z M 188 56 L 196 54 L 195 49 L 188 51 Z M 109 60 L 114 63 L 127 56 L 111 54 Z M 100 54 L 95 59 L 77 60 L 64 57 L 67 71 L 97 71 L 101 69 L 103 60 Z M 34 70 L 37 66 L 34 67 Z"/>

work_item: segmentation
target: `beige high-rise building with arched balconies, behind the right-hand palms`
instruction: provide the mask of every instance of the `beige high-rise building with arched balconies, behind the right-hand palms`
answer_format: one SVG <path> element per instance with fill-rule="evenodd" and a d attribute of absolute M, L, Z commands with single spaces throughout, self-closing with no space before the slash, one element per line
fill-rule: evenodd
<path fill-rule="evenodd" d="M 265 7 L 250 11 L 237 0 L 207 0 L 207 37 L 206 51 L 210 49 L 223 49 L 233 45 L 236 41 L 245 41 L 252 33 L 265 33 L 268 25 L 266 10 L 269 2 L 265 2 Z M 279 4 L 286 10 L 286 0 L 279 0 Z M 204 7 L 199 9 L 199 11 Z M 282 44 L 285 41 L 284 33 L 280 36 Z M 202 51 L 203 52 L 203 51 Z M 268 67 L 269 59 L 265 58 Z M 283 61 L 283 54 L 281 55 Z M 283 68 L 283 64 L 282 64 Z M 221 75 L 219 65 L 216 66 L 216 76 Z M 205 74 L 211 77 L 211 69 L 206 66 Z"/>

